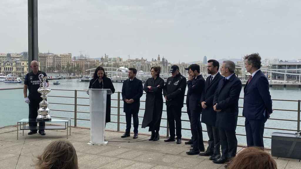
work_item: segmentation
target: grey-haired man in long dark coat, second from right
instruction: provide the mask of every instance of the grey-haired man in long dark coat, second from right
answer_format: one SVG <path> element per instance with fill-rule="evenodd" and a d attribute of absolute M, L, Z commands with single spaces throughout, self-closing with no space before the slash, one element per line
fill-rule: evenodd
<path fill-rule="evenodd" d="M 216 164 L 223 164 L 235 157 L 237 139 L 235 135 L 238 117 L 238 99 L 242 84 L 234 74 L 235 63 L 225 60 L 222 63 L 221 73 L 225 76 L 219 81 L 213 97 L 213 109 L 216 111 L 215 127 L 219 129 L 219 138 L 222 146 L 222 156 L 213 160 Z"/>

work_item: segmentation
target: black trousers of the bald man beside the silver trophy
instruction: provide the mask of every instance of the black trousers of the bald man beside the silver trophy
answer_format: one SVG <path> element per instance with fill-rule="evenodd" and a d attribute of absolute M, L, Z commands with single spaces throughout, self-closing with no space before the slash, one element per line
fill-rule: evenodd
<path fill-rule="evenodd" d="M 36 122 L 36 118 L 38 116 L 38 109 L 40 108 L 39 103 L 42 100 L 33 100 L 30 99 L 29 100 L 29 116 L 28 118 L 29 120 L 29 127 L 36 127 L 37 126 L 37 122 Z M 31 122 L 30 122 L 31 121 Z M 39 122 L 39 127 L 45 126 L 45 122 Z M 37 131 L 37 130 L 31 130 L 31 131 Z M 44 131 L 44 129 L 40 129 L 39 131 Z"/>

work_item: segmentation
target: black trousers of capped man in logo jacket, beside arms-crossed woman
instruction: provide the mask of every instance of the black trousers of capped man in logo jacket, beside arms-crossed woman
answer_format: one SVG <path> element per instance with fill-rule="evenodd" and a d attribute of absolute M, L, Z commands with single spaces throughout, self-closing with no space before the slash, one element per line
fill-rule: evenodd
<path fill-rule="evenodd" d="M 170 138 L 182 138 L 182 107 L 180 106 L 166 106 L 166 112 L 167 112 L 167 120 L 169 124 L 169 134 Z M 175 133 L 176 131 L 176 133 Z"/>

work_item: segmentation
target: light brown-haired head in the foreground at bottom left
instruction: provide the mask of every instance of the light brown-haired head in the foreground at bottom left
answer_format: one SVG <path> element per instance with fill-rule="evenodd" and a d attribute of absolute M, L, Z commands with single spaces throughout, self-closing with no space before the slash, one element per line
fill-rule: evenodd
<path fill-rule="evenodd" d="M 77 155 L 69 141 L 51 142 L 42 155 L 38 156 L 38 169 L 78 169 Z"/>

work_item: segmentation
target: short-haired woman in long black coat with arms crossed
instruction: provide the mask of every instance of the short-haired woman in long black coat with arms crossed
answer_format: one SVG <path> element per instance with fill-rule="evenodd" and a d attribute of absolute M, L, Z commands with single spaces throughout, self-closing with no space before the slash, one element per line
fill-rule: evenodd
<path fill-rule="evenodd" d="M 151 68 L 151 78 L 144 84 L 143 90 L 146 92 L 145 112 L 142 121 L 142 128 L 149 127 L 151 131 L 150 141 L 159 140 L 159 130 L 163 109 L 162 89 L 164 80 L 160 78 L 161 68 L 155 66 Z"/>

